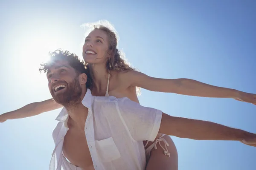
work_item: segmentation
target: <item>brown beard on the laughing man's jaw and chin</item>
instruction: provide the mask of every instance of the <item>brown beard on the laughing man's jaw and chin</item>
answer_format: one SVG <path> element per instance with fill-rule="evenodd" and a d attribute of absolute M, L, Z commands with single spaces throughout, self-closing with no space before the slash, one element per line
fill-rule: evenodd
<path fill-rule="evenodd" d="M 81 87 L 79 84 L 78 76 L 73 80 L 73 82 L 69 83 L 64 89 L 64 92 L 60 94 L 55 94 L 53 90 L 51 90 L 52 98 L 56 103 L 63 105 L 64 107 L 76 106 L 81 103 Z"/>

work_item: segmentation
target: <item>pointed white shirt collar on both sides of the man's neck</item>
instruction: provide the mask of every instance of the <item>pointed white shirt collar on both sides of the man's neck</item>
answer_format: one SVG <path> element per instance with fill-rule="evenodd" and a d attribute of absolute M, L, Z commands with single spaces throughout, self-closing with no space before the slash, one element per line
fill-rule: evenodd
<path fill-rule="evenodd" d="M 91 109 L 92 101 L 93 101 L 92 93 L 91 93 L 90 89 L 87 89 L 84 99 L 82 100 L 82 104 L 85 107 Z M 63 108 L 55 120 L 58 120 L 60 122 L 65 122 L 67 120 L 67 118 L 68 118 L 67 110 L 66 110 L 66 108 Z"/>

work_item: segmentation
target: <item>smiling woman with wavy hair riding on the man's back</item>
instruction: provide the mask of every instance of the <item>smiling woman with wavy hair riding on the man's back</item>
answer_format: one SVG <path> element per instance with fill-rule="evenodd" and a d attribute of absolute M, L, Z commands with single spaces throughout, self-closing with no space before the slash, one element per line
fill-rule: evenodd
<path fill-rule="evenodd" d="M 139 102 L 136 87 L 140 87 L 150 91 L 190 96 L 228 97 L 256 104 L 255 94 L 207 85 L 191 79 L 158 79 L 135 71 L 125 63 L 116 48 L 117 37 L 114 31 L 100 24 L 92 26 L 93 30 L 87 35 L 83 45 L 83 58 L 93 79 L 91 91 L 94 96 L 128 97 Z M 0 121 L 35 116 L 61 107 L 52 99 L 35 102 L 0 115 Z M 159 134 L 154 142 L 145 141 L 144 144 L 148 159 L 147 170 L 178 169 L 177 150 L 169 136 Z"/>

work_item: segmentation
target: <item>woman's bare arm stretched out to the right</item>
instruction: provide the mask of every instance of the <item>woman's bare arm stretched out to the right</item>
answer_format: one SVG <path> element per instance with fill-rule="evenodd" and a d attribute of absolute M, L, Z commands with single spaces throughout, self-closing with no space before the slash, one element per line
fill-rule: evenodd
<path fill-rule="evenodd" d="M 149 77 L 138 71 L 128 71 L 122 74 L 122 80 L 129 82 L 132 86 L 145 88 L 150 91 L 176 93 L 188 96 L 233 98 L 256 105 L 256 94 L 208 85 L 193 79 L 160 79 Z"/>

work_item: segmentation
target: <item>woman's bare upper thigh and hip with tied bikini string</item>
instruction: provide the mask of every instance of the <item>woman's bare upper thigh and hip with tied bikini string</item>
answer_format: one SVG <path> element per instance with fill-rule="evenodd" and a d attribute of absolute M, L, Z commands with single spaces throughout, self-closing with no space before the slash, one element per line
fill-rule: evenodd
<path fill-rule="evenodd" d="M 161 135 L 162 134 L 159 134 L 157 136 L 154 143 L 151 142 L 148 144 L 149 149 L 151 144 L 156 144 L 157 149 L 155 149 L 155 147 L 151 149 L 146 170 L 178 170 L 178 154 L 175 144 L 170 136 L 165 135 L 161 137 Z M 164 140 L 169 144 L 169 146 L 165 145 Z M 164 150 L 160 146 L 160 144 L 164 148 Z"/>

